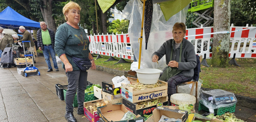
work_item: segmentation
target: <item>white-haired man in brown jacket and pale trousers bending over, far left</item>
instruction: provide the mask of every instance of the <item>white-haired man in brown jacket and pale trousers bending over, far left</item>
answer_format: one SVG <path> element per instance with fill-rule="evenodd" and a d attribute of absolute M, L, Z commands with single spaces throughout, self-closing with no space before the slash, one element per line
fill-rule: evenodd
<path fill-rule="evenodd" d="M 28 48 L 28 52 L 32 51 L 34 54 L 34 50 L 35 50 L 35 43 L 33 41 L 33 38 L 31 36 L 31 34 L 25 29 L 24 26 L 20 26 L 19 27 L 20 32 L 23 33 L 23 39 L 18 40 L 18 42 L 22 42 L 22 41 L 30 41 L 31 46 L 29 45 L 29 42 L 24 42 L 24 46 Z M 35 55 L 33 55 L 34 58 L 34 63 L 35 62 Z"/>

